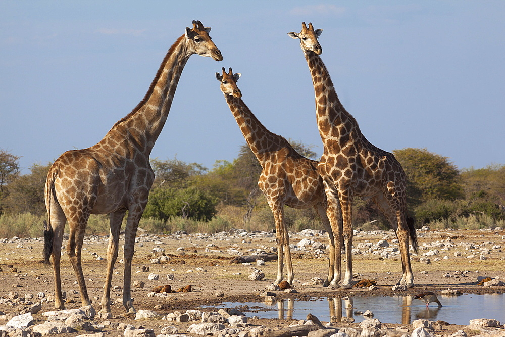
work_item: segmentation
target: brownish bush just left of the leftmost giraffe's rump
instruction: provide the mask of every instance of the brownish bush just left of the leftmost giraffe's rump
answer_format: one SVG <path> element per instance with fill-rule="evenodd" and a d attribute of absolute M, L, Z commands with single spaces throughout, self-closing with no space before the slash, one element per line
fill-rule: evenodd
<path fill-rule="evenodd" d="M 51 164 L 33 164 L 29 174 L 19 176 L 9 184 L 5 199 L 6 213 L 44 215 L 44 185 Z"/>

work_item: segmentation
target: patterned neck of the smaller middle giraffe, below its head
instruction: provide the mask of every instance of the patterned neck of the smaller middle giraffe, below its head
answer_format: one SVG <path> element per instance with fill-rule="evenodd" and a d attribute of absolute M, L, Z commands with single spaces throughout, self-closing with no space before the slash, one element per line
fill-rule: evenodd
<path fill-rule="evenodd" d="M 291 145 L 284 138 L 275 133 L 270 132 L 256 118 L 256 116 L 245 105 L 242 99 L 235 98 L 230 95 L 225 95 L 226 103 L 230 107 L 235 120 L 237 121 L 240 131 L 249 145 L 252 153 L 256 156 L 260 165 L 269 160 L 271 153 L 282 148 L 291 149 Z"/>

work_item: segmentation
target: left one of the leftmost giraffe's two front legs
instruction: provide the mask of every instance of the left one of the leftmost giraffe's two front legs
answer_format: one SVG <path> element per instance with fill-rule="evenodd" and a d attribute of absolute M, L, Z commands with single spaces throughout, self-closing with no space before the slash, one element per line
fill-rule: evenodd
<path fill-rule="evenodd" d="M 119 231 L 121 223 L 123 222 L 124 212 L 111 213 L 110 217 L 110 236 L 109 246 L 107 248 L 107 275 L 105 278 L 104 295 L 102 296 L 102 309 L 99 313 L 111 312 L 111 286 L 112 286 L 112 273 L 114 271 L 114 264 L 118 258 L 119 251 Z"/>

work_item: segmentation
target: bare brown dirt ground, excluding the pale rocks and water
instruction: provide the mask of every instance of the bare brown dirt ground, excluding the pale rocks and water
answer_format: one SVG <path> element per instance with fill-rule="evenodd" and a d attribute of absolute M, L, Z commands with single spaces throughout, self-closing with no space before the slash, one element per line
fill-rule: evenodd
<path fill-rule="evenodd" d="M 303 285 L 313 277 L 325 278 L 328 261 L 324 257 L 315 257 L 308 251 L 293 252 L 293 266 L 295 273 L 294 287 L 296 293 L 275 291 L 277 300 L 287 298 L 308 299 L 310 297 L 345 297 L 345 296 L 391 296 L 394 294 L 417 294 L 424 291 L 439 293 L 447 289 L 459 290 L 462 293 L 484 294 L 503 293 L 505 287 L 485 288 L 477 284 L 477 277 L 490 276 L 505 278 L 505 230 L 463 230 L 463 231 L 418 231 L 421 250 L 419 255 L 412 255 L 412 268 L 415 275 L 415 287 L 407 292 L 392 291 L 391 287 L 401 277 L 401 263 L 399 257 L 381 258 L 379 255 L 356 255 L 353 258 L 355 279 L 370 279 L 377 281 L 378 290 L 369 291 L 367 288 L 353 288 L 352 290 L 339 290 L 324 288 L 322 285 Z M 239 238 L 236 235 L 218 239 L 215 235 L 137 235 L 135 256 L 132 268 L 132 283 L 135 280 L 145 282 L 143 288 L 132 286 L 132 297 L 137 310 L 156 310 L 161 315 L 180 311 L 184 313 L 188 309 L 198 309 L 200 306 L 213 306 L 222 302 L 262 302 L 263 298 L 258 295 L 273 283 L 277 273 L 277 261 L 266 262 L 264 266 L 244 265 L 232 263 L 234 256 L 230 255 L 229 249 L 234 249 L 250 255 L 250 250 L 263 248 L 269 251 L 275 246 L 275 237 Z M 377 243 L 384 238 L 384 232 L 368 232 L 366 235 L 356 235 L 354 246 L 359 243 Z M 387 236 L 387 235 L 386 235 Z M 296 244 L 304 236 L 293 234 L 291 244 Z M 311 240 L 327 243 L 324 236 L 309 237 Z M 393 234 L 387 236 L 391 243 Z M 431 263 L 420 261 L 423 253 L 430 250 L 441 250 L 441 247 L 425 247 L 432 243 L 449 243 L 447 251 L 441 251 L 436 256 L 430 256 Z M 0 298 L 7 298 L 10 292 L 17 292 L 20 296 L 25 294 L 36 295 L 39 292 L 54 294 L 54 281 L 52 268 L 47 268 L 42 263 L 42 240 L 41 239 L 4 239 L 0 241 Z M 64 245 L 66 241 L 64 241 Z M 122 243 L 121 243 L 122 244 Z M 214 245 L 214 246 L 210 246 Z M 473 245 L 473 246 L 472 246 Z M 436 246 L 436 245 L 435 245 Z M 503 248 L 497 248 L 502 246 Z M 160 247 L 165 250 L 168 261 L 153 264 L 153 248 Z M 394 247 L 392 244 L 391 247 Z M 87 237 L 82 253 L 83 271 L 89 296 L 96 311 L 100 309 L 102 286 L 105 281 L 107 265 L 107 237 Z M 208 252 L 206 252 L 206 248 Z M 122 249 L 120 247 L 120 249 Z M 445 247 L 444 249 L 447 249 Z M 222 252 L 222 253 L 220 253 Z M 461 252 L 461 256 L 455 256 L 455 252 Z M 485 260 L 480 260 L 484 252 Z M 325 250 L 325 253 L 327 251 Z M 473 258 L 468 258 L 474 255 Z M 120 252 L 121 256 L 121 252 Z M 443 259 L 449 256 L 449 259 Z M 435 261 L 436 259 L 438 261 Z M 250 267 L 254 266 L 265 273 L 265 279 L 251 281 Z M 146 269 L 148 271 L 145 271 Z M 459 273 L 458 271 L 468 271 Z M 421 273 L 422 272 L 422 273 Z M 160 275 L 159 280 L 148 280 L 150 273 Z M 168 280 L 167 275 L 173 274 L 174 279 Z M 448 275 L 447 275 L 448 274 Z M 449 277 L 447 277 L 449 276 Z M 78 294 L 78 285 L 75 284 L 75 275 L 67 256 L 62 257 L 62 280 L 63 289 L 67 293 L 67 309 L 75 309 L 81 306 Z M 191 292 L 173 293 L 166 298 L 148 297 L 153 288 L 160 285 L 171 285 L 173 290 L 178 290 L 186 285 L 191 285 Z M 112 291 L 114 303 L 112 305 L 113 319 L 111 322 L 130 323 L 136 326 L 153 329 L 159 334 L 163 326 L 175 325 L 179 333 L 186 333 L 191 323 L 173 323 L 166 320 L 153 319 L 134 321 L 120 316 L 125 312 L 122 306 L 123 265 L 116 263 L 113 278 Z M 216 291 L 221 290 L 223 297 L 217 297 Z M 54 303 L 43 303 L 41 312 L 53 310 Z M 239 308 L 240 309 L 240 308 Z M 9 313 L 12 306 L 0 303 L 0 311 Z M 205 309 L 211 311 L 212 309 Z M 40 313 L 41 313 L 40 312 Z M 245 312 L 249 323 L 265 325 L 267 327 L 286 327 L 293 323 L 292 320 L 279 319 L 251 319 L 254 313 Z M 478 316 L 478 313 L 476 313 Z M 42 323 L 45 318 L 35 315 Z M 475 317 L 484 318 L 484 317 Z M 95 319 L 97 323 L 103 320 Z M 323 322 L 325 323 L 325 322 Z M 451 332 L 464 329 L 466 326 L 440 324 L 436 334 L 449 335 Z M 0 322 L 0 324 L 5 324 Z M 503 322 L 501 322 L 503 324 Z M 359 327 L 358 323 L 334 323 L 337 327 Z M 395 329 L 399 324 L 383 324 L 388 328 Z M 408 332 L 412 332 L 412 325 L 403 325 Z M 122 335 L 117 331 L 106 327 L 103 331 L 108 335 Z M 397 331 L 397 330 L 394 330 Z M 476 331 L 465 330 L 469 335 Z M 74 335 L 82 334 L 76 332 Z M 398 335 L 405 332 L 398 331 Z M 190 334 L 188 334 L 190 335 Z"/>

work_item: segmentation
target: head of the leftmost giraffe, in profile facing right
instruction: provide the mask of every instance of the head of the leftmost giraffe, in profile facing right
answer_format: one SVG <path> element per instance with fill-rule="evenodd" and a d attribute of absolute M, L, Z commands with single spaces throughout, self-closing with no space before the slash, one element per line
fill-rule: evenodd
<path fill-rule="evenodd" d="M 209 32 L 210 27 L 204 27 L 200 21 L 193 20 L 193 28 L 186 27 L 186 39 L 188 51 L 190 54 L 198 54 L 201 56 L 210 56 L 216 61 L 223 60 L 221 51 L 212 42 Z"/>

